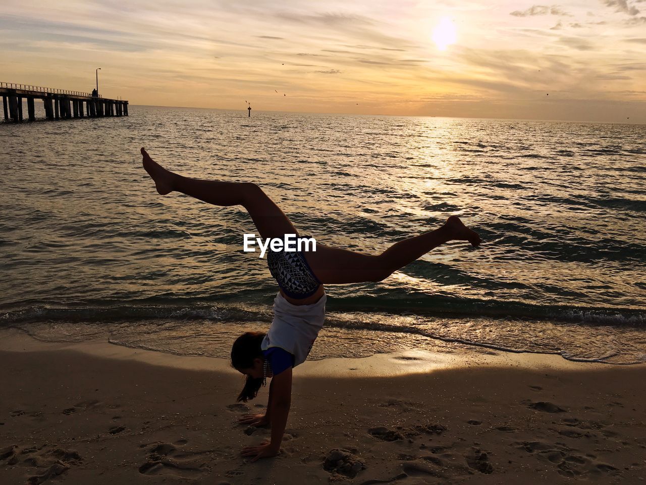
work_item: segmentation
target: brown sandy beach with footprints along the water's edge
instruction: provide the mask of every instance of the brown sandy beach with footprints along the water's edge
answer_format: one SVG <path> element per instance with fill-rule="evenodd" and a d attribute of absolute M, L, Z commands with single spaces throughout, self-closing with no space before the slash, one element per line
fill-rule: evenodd
<path fill-rule="evenodd" d="M 2 484 L 638 484 L 646 366 L 532 354 L 308 361 L 282 451 L 224 360 L 3 332 Z M 422 369 L 423 373 L 414 373 Z"/>

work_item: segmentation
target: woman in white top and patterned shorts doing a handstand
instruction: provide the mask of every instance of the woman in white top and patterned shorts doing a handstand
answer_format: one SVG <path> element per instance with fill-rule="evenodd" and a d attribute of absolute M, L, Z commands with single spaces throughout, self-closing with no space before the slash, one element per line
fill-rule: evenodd
<path fill-rule="evenodd" d="M 256 184 L 183 177 L 161 167 L 141 148 L 143 167 L 158 193 L 178 191 L 215 206 L 243 206 L 264 239 L 283 239 L 298 231 L 287 216 Z M 271 426 L 271 440 L 245 447 L 242 455 L 274 457 L 280 451 L 291 405 L 292 368 L 303 363 L 323 326 L 326 294 L 323 285 L 382 281 L 433 248 L 448 241 L 481 239 L 456 216 L 439 228 L 399 241 L 378 255 L 316 244 L 315 251 L 271 251 L 267 264 L 280 291 L 274 299 L 274 318 L 267 334 L 246 332 L 233 343 L 231 365 L 247 376 L 238 402 L 253 399 L 270 377 L 269 402 L 264 415 L 240 418 L 243 424 Z"/>

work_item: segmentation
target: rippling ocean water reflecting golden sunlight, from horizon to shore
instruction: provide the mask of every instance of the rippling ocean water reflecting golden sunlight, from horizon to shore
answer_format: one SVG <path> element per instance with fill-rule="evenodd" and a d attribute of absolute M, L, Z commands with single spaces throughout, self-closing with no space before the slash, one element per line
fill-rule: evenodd
<path fill-rule="evenodd" d="M 160 196 L 145 146 L 189 177 L 253 181 L 302 233 L 379 253 L 458 215 L 380 283 L 331 285 L 310 358 L 541 352 L 646 361 L 646 125 L 131 106 L 0 125 L 0 329 L 225 358 L 277 286 L 242 208 Z"/>

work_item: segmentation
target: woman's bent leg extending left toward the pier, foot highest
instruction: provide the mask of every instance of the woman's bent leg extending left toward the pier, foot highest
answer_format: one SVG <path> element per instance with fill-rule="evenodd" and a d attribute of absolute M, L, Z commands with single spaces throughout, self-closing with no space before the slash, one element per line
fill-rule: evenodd
<path fill-rule="evenodd" d="M 261 237 L 298 235 L 283 211 L 256 184 L 182 177 L 161 167 L 143 148 L 141 155 L 143 167 L 154 180 L 161 195 L 178 191 L 215 206 L 243 206 L 251 215 Z"/>

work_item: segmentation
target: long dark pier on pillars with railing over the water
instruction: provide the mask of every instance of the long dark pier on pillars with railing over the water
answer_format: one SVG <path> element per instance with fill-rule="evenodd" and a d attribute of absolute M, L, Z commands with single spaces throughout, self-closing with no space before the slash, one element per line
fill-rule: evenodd
<path fill-rule="evenodd" d="M 34 103 L 43 100 L 47 120 L 128 116 L 128 102 L 92 96 L 89 92 L 0 82 L 5 122 L 23 122 L 23 99 L 27 100 L 26 121 L 36 121 Z"/>

